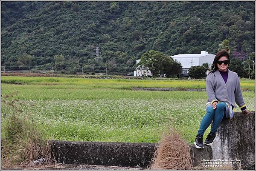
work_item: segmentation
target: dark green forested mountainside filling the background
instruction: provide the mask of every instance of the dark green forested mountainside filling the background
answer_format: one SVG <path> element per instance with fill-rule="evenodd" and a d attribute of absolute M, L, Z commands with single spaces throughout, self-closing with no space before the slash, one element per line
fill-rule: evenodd
<path fill-rule="evenodd" d="M 27 54 L 28 65 L 38 67 L 134 66 L 150 49 L 169 56 L 216 54 L 224 39 L 236 54 L 254 52 L 254 2 L 1 4 L 5 66 L 19 66 L 18 57 Z"/>

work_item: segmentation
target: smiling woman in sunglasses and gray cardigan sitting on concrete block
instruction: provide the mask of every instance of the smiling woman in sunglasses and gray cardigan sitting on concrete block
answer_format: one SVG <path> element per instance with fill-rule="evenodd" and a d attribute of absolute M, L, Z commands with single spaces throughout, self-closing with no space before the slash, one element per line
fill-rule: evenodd
<path fill-rule="evenodd" d="M 204 148 L 204 144 L 212 145 L 222 119 L 233 117 L 233 109 L 236 107 L 235 102 L 244 114 L 249 114 L 241 92 L 239 77 L 236 72 L 228 69 L 229 64 L 229 53 L 226 50 L 218 51 L 212 63 L 212 71 L 206 78 L 207 113 L 201 121 L 198 135 L 195 137 L 194 144 L 196 148 Z M 211 123 L 211 131 L 203 143 L 204 131 Z"/>

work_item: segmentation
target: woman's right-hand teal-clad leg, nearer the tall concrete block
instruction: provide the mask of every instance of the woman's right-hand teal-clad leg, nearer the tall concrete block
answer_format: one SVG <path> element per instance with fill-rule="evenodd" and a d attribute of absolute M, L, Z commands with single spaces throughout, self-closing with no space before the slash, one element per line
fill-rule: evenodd
<path fill-rule="evenodd" d="M 220 126 L 221 121 L 224 117 L 226 107 L 227 107 L 227 104 L 225 102 L 221 102 L 221 103 L 217 104 L 217 107 L 215 109 L 215 115 L 213 118 L 211 132 L 213 132 L 213 133 L 217 132 L 218 127 Z"/>

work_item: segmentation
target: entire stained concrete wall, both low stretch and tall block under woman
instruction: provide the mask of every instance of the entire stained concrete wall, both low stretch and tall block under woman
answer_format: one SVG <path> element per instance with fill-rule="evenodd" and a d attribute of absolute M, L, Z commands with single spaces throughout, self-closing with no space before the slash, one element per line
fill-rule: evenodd
<path fill-rule="evenodd" d="M 204 149 L 190 145 L 193 165 L 204 160 L 241 159 L 243 169 L 255 167 L 254 112 L 235 113 L 223 120 L 215 142 Z M 196 134 L 196 133 L 195 133 Z M 206 137 L 207 135 L 204 135 Z M 155 143 L 53 141 L 57 162 L 66 164 L 114 165 L 147 168 L 156 150 Z"/>

